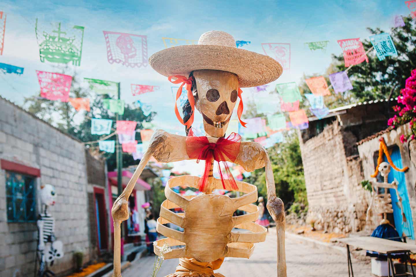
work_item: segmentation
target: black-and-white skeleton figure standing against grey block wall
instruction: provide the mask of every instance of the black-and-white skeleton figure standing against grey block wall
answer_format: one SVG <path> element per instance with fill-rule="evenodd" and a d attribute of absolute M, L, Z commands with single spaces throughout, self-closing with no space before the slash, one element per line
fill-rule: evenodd
<path fill-rule="evenodd" d="M 55 237 L 55 221 L 47 208 L 55 204 L 55 188 L 50 184 L 40 186 L 40 200 L 43 213 L 39 215 L 37 220 L 38 244 L 37 244 L 37 260 L 39 260 L 38 276 L 55 276 L 55 274 L 47 270 L 47 262 L 53 264 L 55 259 L 64 256 L 63 245 L 60 240 Z"/>

